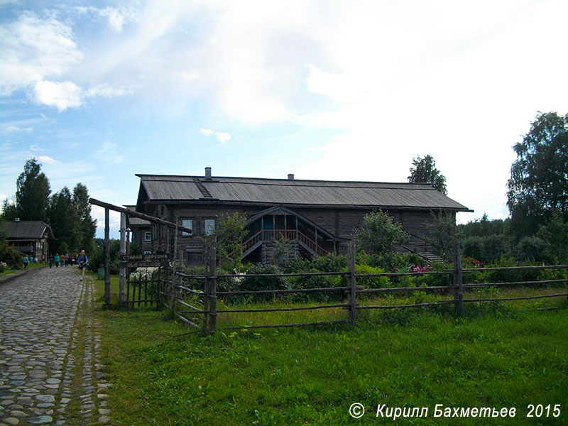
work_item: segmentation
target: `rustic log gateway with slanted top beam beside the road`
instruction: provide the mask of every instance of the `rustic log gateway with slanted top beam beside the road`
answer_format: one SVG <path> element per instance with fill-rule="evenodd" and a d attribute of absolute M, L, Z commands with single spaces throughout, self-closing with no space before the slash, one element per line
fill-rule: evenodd
<path fill-rule="evenodd" d="M 175 224 L 173 222 L 168 222 L 158 217 L 149 216 L 148 214 L 138 213 L 125 207 L 115 206 L 114 204 L 109 204 L 107 202 L 102 202 L 95 200 L 94 198 L 89 198 L 89 203 L 95 206 L 104 208 L 104 304 L 110 305 L 111 303 L 111 278 L 110 278 L 110 236 L 109 236 L 109 212 L 113 210 L 114 212 L 119 212 L 120 217 L 120 254 L 121 260 L 126 257 L 126 218 L 127 217 L 138 217 L 139 219 L 147 220 L 152 224 L 165 226 L 169 229 L 175 230 L 174 236 L 174 253 L 173 258 L 168 258 L 170 261 L 174 261 L 173 268 L 175 274 L 175 253 L 177 251 L 178 244 L 178 231 L 192 232 L 192 229 L 185 226 Z M 164 253 L 168 254 L 168 253 Z M 120 275 L 119 275 L 119 304 L 124 305 L 126 302 L 126 268 L 124 263 L 121 263 Z"/>

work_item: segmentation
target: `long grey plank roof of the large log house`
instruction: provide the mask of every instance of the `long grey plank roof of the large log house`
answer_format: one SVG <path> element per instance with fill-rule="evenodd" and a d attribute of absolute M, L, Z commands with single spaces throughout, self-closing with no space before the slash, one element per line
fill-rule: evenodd
<path fill-rule="evenodd" d="M 425 183 L 344 182 L 203 176 L 136 175 L 144 202 L 224 202 L 288 206 L 447 209 L 471 212 Z"/>

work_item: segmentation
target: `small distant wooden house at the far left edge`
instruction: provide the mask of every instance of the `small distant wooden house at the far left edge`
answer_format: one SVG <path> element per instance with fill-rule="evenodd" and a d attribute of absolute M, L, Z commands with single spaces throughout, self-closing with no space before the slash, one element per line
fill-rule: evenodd
<path fill-rule="evenodd" d="M 6 241 L 14 249 L 27 256 L 38 258 L 38 261 L 47 261 L 49 256 L 49 240 L 55 239 L 53 231 L 48 224 L 40 221 L 6 221 L 2 222 L 1 232 Z"/>

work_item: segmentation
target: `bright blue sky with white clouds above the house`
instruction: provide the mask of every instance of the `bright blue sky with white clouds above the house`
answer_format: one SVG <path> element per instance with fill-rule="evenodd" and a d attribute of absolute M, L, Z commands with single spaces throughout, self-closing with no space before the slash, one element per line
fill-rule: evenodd
<path fill-rule="evenodd" d="M 512 146 L 537 111 L 568 112 L 566 16 L 565 0 L 0 0 L 0 198 L 31 157 L 53 192 L 122 205 L 135 173 L 405 182 L 431 154 L 475 210 L 460 222 L 504 218 Z"/>

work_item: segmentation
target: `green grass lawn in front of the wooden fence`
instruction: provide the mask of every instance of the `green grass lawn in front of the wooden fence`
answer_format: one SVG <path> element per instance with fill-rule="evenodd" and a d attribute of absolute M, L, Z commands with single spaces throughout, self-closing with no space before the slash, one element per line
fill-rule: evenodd
<path fill-rule="evenodd" d="M 104 283 L 96 283 L 101 303 Z M 375 416 L 386 404 L 428 408 L 427 417 L 397 419 L 402 425 L 567 425 L 568 310 L 523 306 L 471 307 L 464 317 L 395 310 L 368 318 L 386 322 L 356 327 L 219 330 L 208 337 L 171 320 L 168 310 L 100 307 L 113 424 L 393 424 Z M 222 324 L 232 322 L 219 317 Z M 352 403 L 366 408 L 361 419 L 349 416 Z M 437 404 L 517 414 L 434 417 Z M 549 417 L 526 417 L 529 404 L 552 405 Z M 559 417 L 552 417 L 555 404 Z"/>

